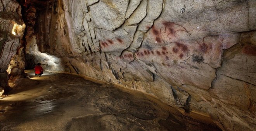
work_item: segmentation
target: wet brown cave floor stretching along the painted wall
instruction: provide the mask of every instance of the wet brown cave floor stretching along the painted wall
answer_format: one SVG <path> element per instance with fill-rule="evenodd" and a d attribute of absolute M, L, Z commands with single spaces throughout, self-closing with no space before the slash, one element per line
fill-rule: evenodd
<path fill-rule="evenodd" d="M 26 73 L 31 79 L 0 99 L 1 131 L 220 130 L 141 92 L 68 74 Z"/>

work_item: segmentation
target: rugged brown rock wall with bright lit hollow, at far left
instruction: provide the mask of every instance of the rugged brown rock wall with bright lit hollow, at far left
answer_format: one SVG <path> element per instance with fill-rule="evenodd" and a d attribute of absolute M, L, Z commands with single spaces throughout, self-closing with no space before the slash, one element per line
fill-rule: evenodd
<path fill-rule="evenodd" d="M 7 68 L 16 54 L 24 27 L 21 6 L 15 0 L 0 2 L 0 96 L 9 90 Z"/>

